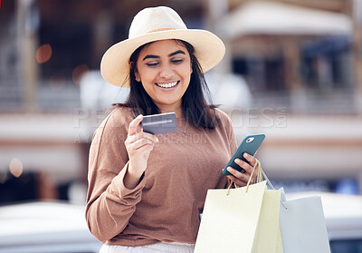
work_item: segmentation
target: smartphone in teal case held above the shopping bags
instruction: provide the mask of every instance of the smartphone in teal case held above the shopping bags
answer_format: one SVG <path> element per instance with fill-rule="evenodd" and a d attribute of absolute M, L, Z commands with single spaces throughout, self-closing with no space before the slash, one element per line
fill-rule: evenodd
<path fill-rule="evenodd" d="M 256 151 L 258 151 L 259 147 L 262 145 L 262 141 L 265 139 L 265 134 L 252 134 L 248 135 L 243 139 L 243 142 L 239 145 L 238 149 L 233 153 L 233 157 L 230 159 L 230 161 L 226 164 L 223 175 L 231 175 L 229 171 L 227 171 L 227 168 L 230 166 L 235 170 L 244 172 L 242 167 L 237 165 L 234 161 L 236 158 L 248 162 L 244 157 L 243 153 L 248 153 L 250 155 L 254 155 Z"/>

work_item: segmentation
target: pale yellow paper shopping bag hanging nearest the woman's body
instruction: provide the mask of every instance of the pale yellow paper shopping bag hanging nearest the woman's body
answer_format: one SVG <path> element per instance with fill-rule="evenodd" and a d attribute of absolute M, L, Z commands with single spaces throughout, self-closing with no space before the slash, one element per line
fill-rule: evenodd
<path fill-rule="evenodd" d="M 256 167 L 261 170 L 259 161 Z M 195 253 L 282 252 L 277 245 L 281 191 L 267 190 L 260 175 L 259 182 L 243 188 L 207 191 Z"/>

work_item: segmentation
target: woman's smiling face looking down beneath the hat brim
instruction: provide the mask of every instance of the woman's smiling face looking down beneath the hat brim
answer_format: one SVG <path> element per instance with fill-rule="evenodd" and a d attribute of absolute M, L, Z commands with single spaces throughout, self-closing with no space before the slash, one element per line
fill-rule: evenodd
<path fill-rule="evenodd" d="M 174 40 L 163 40 L 141 50 L 135 76 L 161 112 L 172 112 L 181 108 L 191 73 L 186 47 Z"/>

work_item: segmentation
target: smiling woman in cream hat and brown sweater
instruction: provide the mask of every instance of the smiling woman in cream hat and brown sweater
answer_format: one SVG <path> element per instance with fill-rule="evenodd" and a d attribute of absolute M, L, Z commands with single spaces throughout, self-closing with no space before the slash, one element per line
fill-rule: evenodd
<path fill-rule="evenodd" d="M 103 77 L 130 87 L 128 102 L 101 123 L 90 147 L 86 219 L 100 252 L 193 252 L 206 191 L 228 180 L 243 186 L 255 163 L 236 161 L 229 118 L 205 100 L 203 73 L 221 61 L 224 44 L 186 28 L 168 7 L 135 16 L 129 39 L 100 64 Z M 177 132 L 142 131 L 144 114 L 176 112 Z"/>

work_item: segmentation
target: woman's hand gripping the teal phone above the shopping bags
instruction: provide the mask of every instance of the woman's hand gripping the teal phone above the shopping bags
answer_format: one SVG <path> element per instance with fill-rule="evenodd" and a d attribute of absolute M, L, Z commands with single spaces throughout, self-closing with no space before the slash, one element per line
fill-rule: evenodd
<path fill-rule="evenodd" d="M 246 159 L 246 161 L 249 161 L 249 163 L 240 159 L 235 159 L 234 161 L 237 165 L 242 167 L 245 172 L 239 172 L 238 170 L 235 170 L 230 166 L 227 168 L 227 171 L 231 173 L 231 175 L 228 175 L 227 177 L 239 187 L 245 186 L 248 183 L 250 177 L 252 177 L 253 182 L 257 174 L 256 170 L 254 170 L 254 172 L 252 173 L 252 168 L 256 162 L 255 158 L 248 153 L 243 153 L 243 157 Z"/>

